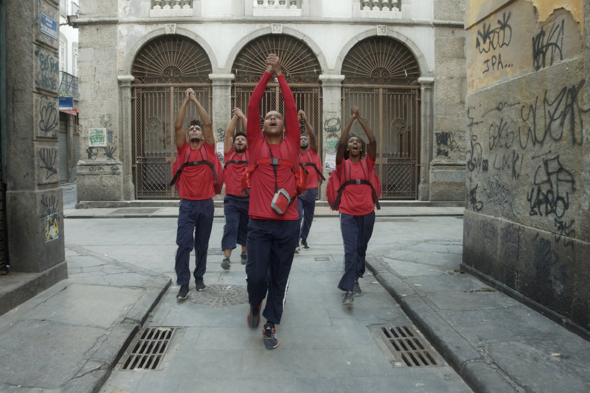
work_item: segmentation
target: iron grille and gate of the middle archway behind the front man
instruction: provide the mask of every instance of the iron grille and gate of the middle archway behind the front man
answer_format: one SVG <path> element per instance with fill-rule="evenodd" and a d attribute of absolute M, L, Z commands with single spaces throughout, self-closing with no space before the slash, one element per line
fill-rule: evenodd
<path fill-rule="evenodd" d="M 303 110 L 313 127 L 317 140 L 318 154 L 322 158 L 322 89 L 319 75 L 321 68 L 316 55 L 303 41 L 289 35 L 264 35 L 248 42 L 240 51 L 232 66 L 234 80 L 234 105 L 247 114 L 248 101 L 254 87 L 266 70 L 266 57 L 274 53 L 281 60 L 281 70 L 289 83 L 297 110 Z M 260 103 L 260 127 L 268 111 L 284 114 L 283 97 L 278 82 L 271 78 Z M 241 127 L 241 123 L 238 122 Z M 304 122 L 300 121 L 301 134 L 306 133 Z M 320 187 L 318 185 L 318 187 Z M 318 188 L 319 190 L 319 188 Z M 318 192 L 318 199 L 320 193 Z"/>

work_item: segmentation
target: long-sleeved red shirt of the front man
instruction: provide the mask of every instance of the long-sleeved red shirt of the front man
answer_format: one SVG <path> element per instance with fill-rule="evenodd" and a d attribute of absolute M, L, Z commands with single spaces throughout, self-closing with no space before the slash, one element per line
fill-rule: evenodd
<path fill-rule="evenodd" d="M 300 150 L 300 131 L 299 120 L 297 119 L 297 108 L 293 93 L 285 80 L 284 75 L 278 76 L 278 85 L 283 95 L 285 105 L 284 124 L 286 133 L 283 141 L 279 144 L 269 145 L 260 131 L 260 101 L 264 95 L 264 90 L 271 75 L 264 72 L 260 82 L 254 88 L 250 101 L 248 102 L 248 152 L 250 155 L 250 165 L 254 165 L 260 158 L 270 158 L 270 151 L 273 152 L 274 158 L 290 161 L 294 166 L 299 164 Z M 278 165 L 277 168 L 277 187 L 285 189 L 289 196 L 296 195 L 295 174 L 285 166 Z M 252 173 L 250 183 L 250 210 L 249 215 L 253 219 L 262 220 L 297 220 L 297 198 L 287 207 L 284 214 L 278 214 L 270 206 L 274 196 L 275 176 L 273 166 L 269 164 L 258 165 Z"/>

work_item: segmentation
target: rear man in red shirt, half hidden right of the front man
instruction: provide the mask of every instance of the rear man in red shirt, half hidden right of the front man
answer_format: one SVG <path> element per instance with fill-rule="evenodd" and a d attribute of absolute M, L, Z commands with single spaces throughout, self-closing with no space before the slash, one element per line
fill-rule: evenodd
<path fill-rule="evenodd" d="M 304 195 L 299 196 L 297 204 L 297 210 L 299 210 L 299 223 L 301 223 L 301 220 L 303 219 L 303 224 L 301 224 L 301 230 L 299 232 L 299 239 L 301 239 L 301 247 L 303 247 L 304 250 L 309 250 L 307 236 L 312 227 L 313 213 L 316 210 L 317 183 L 324 177 L 322 176 L 322 161 L 320 161 L 320 157 L 317 155 L 317 141 L 316 136 L 313 134 L 312 125 L 309 124 L 307 116 L 303 110 L 299 111 L 299 118 L 303 120 L 307 130 L 307 136 L 301 136 L 299 154 L 299 166 L 307 171 L 307 181 L 305 184 L 307 192 Z M 299 251 L 299 243 L 297 243 L 295 252 Z"/>

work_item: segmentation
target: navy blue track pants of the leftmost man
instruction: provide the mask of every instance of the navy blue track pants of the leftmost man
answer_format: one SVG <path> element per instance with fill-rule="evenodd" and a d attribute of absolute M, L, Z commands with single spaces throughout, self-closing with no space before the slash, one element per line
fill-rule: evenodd
<path fill-rule="evenodd" d="M 195 279 L 202 279 L 207 269 L 207 250 L 213 225 L 213 199 L 181 199 L 178 207 L 176 230 L 176 283 L 188 285 L 191 281 L 189 256 L 195 249 Z"/>

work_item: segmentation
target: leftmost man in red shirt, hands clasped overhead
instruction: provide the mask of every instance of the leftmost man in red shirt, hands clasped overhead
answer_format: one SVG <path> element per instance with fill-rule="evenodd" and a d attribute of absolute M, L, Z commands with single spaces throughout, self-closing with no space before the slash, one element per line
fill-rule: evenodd
<path fill-rule="evenodd" d="M 191 121 L 188 129 L 188 141 L 182 126 L 186 105 L 192 101 L 202 120 Z M 196 290 L 207 288 L 203 282 L 203 275 L 207 269 L 207 249 L 209 236 L 213 225 L 213 188 L 214 171 L 213 160 L 218 160 L 215 152 L 215 137 L 211 125 L 211 118 L 195 98 L 191 88 L 186 89 L 184 100 L 176 114 L 174 122 L 176 132 L 175 167 L 182 167 L 177 172 L 176 188 L 181 197 L 178 209 L 178 229 L 176 230 L 176 283 L 181 286 L 178 299 L 186 299 L 189 293 L 191 270 L 189 269 L 189 255 L 195 249 L 195 277 Z M 209 164 L 207 164 L 209 163 Z M 216 174 L 217 176 L 217 174 Z M 177 177 L 177 176 L 175 176 Z M 194 236 L 193 236 L 194 235 Z"/>

